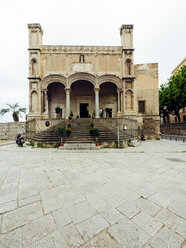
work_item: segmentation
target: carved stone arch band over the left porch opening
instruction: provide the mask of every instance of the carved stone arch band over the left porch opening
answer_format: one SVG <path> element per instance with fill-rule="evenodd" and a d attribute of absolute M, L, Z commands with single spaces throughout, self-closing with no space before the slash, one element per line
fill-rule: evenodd
<path fill-rule="evenodd" d="M 65 87 L 67 86 L 67 79 L 64 76 L 53 74 L 53 75 L 49 75 L 43 78 L 43 80 L 41 81 L 42 89 L 46 90 L 49 84 L 54 83 L 54 82 L 61 83 Z"/>

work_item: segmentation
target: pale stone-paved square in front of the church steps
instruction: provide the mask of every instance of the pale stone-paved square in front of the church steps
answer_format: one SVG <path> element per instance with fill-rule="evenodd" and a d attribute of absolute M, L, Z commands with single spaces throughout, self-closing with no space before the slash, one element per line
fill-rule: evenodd
<path fill-rule="evenodd" d="M 0 147 L 0 248 L 186 247 L 186 144 Z"/>

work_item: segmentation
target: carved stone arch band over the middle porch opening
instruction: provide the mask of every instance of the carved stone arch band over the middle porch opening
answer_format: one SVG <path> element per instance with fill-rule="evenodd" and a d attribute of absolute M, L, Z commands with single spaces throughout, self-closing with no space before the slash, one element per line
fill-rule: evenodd
<path fill-rule="evenodd" d="M 70 88 L 71 85 L 76 81 L 88 81 L 92 83 L 95 87 L 96 85 L 96 77 L 90 73 L 80 72 L 74 73 L 68 78 L 68 87 Z"/>

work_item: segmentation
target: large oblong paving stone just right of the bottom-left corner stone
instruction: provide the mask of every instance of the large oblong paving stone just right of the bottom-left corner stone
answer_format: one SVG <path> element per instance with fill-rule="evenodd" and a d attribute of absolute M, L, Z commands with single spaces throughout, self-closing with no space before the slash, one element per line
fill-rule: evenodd
<path fill-rule="evenodd" d="M 23 227 L 23 244 L 34 243 L 56 229 L 52 216 L 43 216 Z"/>

